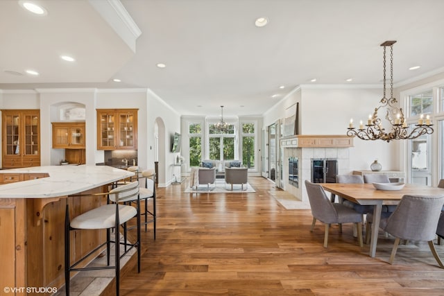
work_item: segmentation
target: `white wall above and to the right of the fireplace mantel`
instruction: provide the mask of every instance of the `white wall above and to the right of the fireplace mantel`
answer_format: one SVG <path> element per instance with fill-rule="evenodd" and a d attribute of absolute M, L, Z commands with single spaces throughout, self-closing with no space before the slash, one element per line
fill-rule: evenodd
<path fill-rule="evenodd" d="M 301 85 L 293 94 L 282 99 L 270 112 L 264 114 L 264 126 L 284 118 L 289 105 L 300 102 L 300 134 L 346 134 L 350 118 L 359 125 L 379 105 L 382 89 L 341 87 L 336 85 Z M 350 148 L 348 171 L 369 170 L 373 160 L 378 159 L 383 170 L 399 169 L 399 161 L 393 155 L 399 150 L 395 141 L 364 141 L 354 139 Z M 342 170 L 343 168 L 341 168 Z"/>

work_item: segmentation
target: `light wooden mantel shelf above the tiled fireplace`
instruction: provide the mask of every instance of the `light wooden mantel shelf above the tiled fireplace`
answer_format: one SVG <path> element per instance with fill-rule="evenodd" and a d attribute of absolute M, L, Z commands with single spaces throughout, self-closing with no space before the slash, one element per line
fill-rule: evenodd
<path fill-rule="evenodd" d="M 353 146 L 353 138 L 344 134 L 298 134 L 280 140 L 283 148 L 346 148 Z"/>

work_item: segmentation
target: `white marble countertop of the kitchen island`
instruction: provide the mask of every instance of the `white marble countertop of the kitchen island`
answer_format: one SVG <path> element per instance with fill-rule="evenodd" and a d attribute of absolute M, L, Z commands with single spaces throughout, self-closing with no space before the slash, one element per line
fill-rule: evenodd
<path fill-rule="evenodd" d="M 0 173 L 48 173 L 49 177 L 0 185 L 0 198 L 54 198 L 109 184 L 134 173 L 111 166 L 35 166 Z"/>

